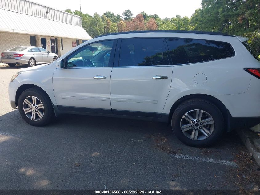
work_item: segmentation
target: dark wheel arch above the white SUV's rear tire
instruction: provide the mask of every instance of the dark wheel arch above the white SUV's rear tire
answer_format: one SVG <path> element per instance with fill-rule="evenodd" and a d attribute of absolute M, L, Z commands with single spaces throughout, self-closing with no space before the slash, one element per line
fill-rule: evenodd
<path fill-rule="evenodd" d="M 224 123 L 225 123 L 225 129 L 229 132 L 230 131 L 230 126 L 229 126 L 229 112 L 226 108 L 226 106 L 217 98 L 215 98 L 212 95 L 206 95 L 206 94 L 190 94 L 190 95 L 185 95 L 183 97 L 181 97 L 180 99 L 178 99 L 176 102 L 174 102 L 174 104 L 172 105 L 171 109 L 170 109 L 170 113 L 169 113 L 169 117 L 168 117 L 168 124 L 170 123 L 171 117 L 173 115 L 174 110 L 178 107 L 178 105 L 180 105 L 182 102 L 186 101 L 186 100 L 190 100 L 190 99 L 194 99 L 194 98 L 199 98 L 199 99 L 203 99 L 203 100 L 208 100 L 211 103 L 215 104 L 218 109 L 220 110 L 220 112 L 223 115 L 224 118 Z"/>

